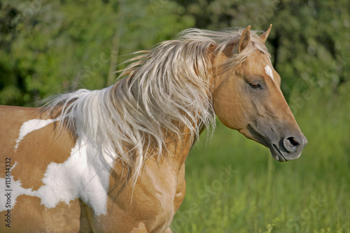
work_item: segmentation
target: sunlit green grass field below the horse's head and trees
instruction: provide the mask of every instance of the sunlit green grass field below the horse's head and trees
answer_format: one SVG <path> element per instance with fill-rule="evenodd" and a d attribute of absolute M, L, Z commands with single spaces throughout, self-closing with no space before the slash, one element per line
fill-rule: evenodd
<path fill-rule="evenodd" d="M 218 123 L 186 160 L 187 192 L 174 232 L 350 232 L 350 94 L 313 92 L 295 118 L 309 141 L 276 162 Z M 331 99 L 330 99 L 331 98 Z"/>

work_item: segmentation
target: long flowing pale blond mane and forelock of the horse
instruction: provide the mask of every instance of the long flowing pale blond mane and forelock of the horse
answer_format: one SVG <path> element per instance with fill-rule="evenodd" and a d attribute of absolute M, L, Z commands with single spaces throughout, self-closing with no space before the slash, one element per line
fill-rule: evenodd
<path fill-rule="evenodd" d="M 110 161 L 123 164 L 136 181 L 149 157 L 167 153 L 167 137 L 182 140 L 181 130 L 187 127 L 194 139 L 202 127 L 215 127 L 210 94 L 214 53 L 237 44 L 241 31 L 185 30 L 177 40 L 141 51 L 115 85 L 62 94 L 48 107 L 62 106 L 69 127 L 79 125 L 111 167 Z M 268 55 L 265 43 L 251 31 L 248 47 L 223 66 L 243 62 L 256 49 Z"/>

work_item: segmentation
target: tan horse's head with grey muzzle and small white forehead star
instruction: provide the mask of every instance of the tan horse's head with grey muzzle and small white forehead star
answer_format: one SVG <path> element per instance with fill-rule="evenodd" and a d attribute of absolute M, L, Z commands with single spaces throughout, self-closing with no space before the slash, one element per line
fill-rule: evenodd
<path fill-rule="evenodd" d="M 281 92 L 281 77 L 265 47 L 269 29 L 216 50 L 213 101 L 219 120 L 271 150 L 278 161 L 295 160 L 307 144 Z"/>

